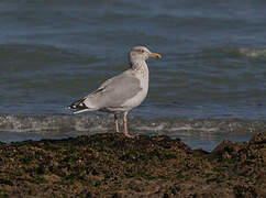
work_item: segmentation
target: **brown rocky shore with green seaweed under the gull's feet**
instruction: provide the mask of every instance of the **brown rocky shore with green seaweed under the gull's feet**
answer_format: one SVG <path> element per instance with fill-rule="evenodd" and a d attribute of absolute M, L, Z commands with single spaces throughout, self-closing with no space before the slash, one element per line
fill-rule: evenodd
<path fill-rule="evenodd" d="M 211 153 L 167 136 L 0 143 L 0 197 L 264 197 L 266 133 Z"/>

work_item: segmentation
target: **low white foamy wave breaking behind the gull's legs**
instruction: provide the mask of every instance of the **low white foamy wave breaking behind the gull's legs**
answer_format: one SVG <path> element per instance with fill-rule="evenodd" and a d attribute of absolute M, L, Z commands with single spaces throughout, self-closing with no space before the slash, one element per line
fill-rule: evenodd
<path fill-rule="evenodd" d="M 179 132 L 193 133 L 241 133 L 261 132 L 266 121 L 244 121 L 239 119 L 143 119 L 130 118 L 134 131 L 175 135 Z M 1 132 L 73 132 L 112 131 L 113 119 L 107 116 L 0 116 Z"/>

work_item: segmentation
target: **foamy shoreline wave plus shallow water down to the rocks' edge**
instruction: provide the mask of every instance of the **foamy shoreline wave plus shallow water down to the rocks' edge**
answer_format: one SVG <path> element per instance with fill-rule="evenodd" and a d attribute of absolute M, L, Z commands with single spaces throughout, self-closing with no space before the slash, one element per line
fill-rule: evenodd
<path fill-rule="evenodd" d="M 264 132 L 266 121 L 237 119 L 142 119 L 129 118 L 132 134 L 168 135 L 181 139 L 192 148 L 213 150 L 223 140 L 248 141 L 255 133 Z M 96 133 L 112 133 L 112 117 L 103 116 L 0 116 L 0 141 L 40 141 L 66 139 Z"/>

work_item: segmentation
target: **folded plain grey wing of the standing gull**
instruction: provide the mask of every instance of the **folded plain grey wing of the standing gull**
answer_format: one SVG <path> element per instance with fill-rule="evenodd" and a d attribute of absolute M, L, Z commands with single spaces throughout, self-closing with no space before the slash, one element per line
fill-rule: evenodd
<path fill-rule="evenodd" d="M 130 72 L 104 81 L 96 91 L 87 96 L 87 107 L 102 109 L 121 107 L 142 90 L 141 81 Z"/>

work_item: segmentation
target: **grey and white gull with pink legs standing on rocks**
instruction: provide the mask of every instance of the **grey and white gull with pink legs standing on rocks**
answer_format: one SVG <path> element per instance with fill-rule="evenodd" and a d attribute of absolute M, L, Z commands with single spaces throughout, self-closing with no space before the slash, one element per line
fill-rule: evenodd
<path fill-rule="evenodd" d="M 158 53 L 152 53 L 145 46 L 135 46 L 129 53 L 130 68 L 114 76 L 98 89 L 82 99 L 73 102 L 68 109 L 76 110 L 74 113 L 86 111 L 103 111 L 114 114 L 115 131 L 119 130 L 118 114 L 123 113 L 124 135 L 135 138 L 128 130 L 128 113 L 140 106 L 148 91 L 148 67 L 146 61 L 162 58 Z"/>

